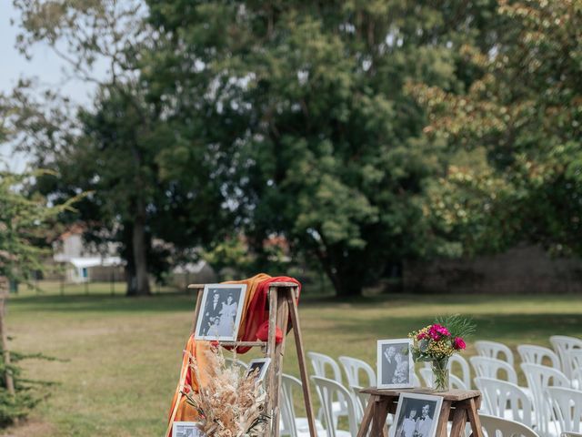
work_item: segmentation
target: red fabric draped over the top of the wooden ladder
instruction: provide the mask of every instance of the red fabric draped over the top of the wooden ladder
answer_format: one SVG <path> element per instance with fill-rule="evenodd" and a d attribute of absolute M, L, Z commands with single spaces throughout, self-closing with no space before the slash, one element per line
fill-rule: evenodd
<path fill-rule="evenodd" d="M 288 276 L 276 276 L 275 278 L 269 278 L 262 281 L 258 285 L 253 300 L 248 304 L 248 310 L 246 310 L 246 330 L 243 336 L 238 338 L 239 341 L 256 341 L 256 334 L 259 327 L 269 321 L 269 308 L 268 308 L 268 294 L 269 285 L 273 282 L 293 282 L 297 284 L 297 303 L 299 303 L 299 294 L 301 293 L 301 283 L 295 278 L 289 278 Z M 283 337 L 281 337 L 283 339 Z M 227 348 L 231 349 L 231 348 Z M 250 351 L 250 347 L 238 347 L 236 348 L 236 353 L 246 353 Z"/>

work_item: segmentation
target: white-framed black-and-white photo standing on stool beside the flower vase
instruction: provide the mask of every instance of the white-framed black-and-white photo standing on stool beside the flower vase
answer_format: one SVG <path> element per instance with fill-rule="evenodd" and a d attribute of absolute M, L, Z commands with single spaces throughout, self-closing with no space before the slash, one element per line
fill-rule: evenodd
<path fill-rule="evenodd" d="M 410 348 L 412 340 L 378 340 L 377 387 L 378 389 L 412 388 L 414 362 Z"/>

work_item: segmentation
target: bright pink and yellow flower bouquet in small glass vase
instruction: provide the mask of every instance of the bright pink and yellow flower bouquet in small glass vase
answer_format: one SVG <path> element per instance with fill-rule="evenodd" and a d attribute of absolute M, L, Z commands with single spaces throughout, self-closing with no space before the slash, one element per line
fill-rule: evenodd
<path fill-rule="evenodd" d="M 412 356 L 415 361 L 432 364 L 433 385 L 436 391 L 448 390 L 448 359 L 467 347 L 465 339 L 475 332 L 475 324 L 459 315 L 438 318 L 422 330 L 408 334 L 412 340 Z"/>

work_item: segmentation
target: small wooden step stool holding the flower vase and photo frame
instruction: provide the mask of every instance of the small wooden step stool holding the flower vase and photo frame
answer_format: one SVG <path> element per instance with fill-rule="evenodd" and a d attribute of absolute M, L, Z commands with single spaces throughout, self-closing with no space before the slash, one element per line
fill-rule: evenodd
<path fill-rule="evenodd" d="M 475 390 L 431 391 L 429 389 L 386 390 L 367 388 L 370 395 L 357 437 L 366 437 L 372 425 L 371 437 L 387 437 L 386 416 L 396 413 L 400 393 L 432 394 L 441 396 L 443 404 L 437 423 L 437 436 L 447 437 L 447 422 L 453 423 L 450 437 L 461 437 L 467 422 L 471 424 L 472 436 L 483 437 L 477 410 L 481 406 L 481 392 Z"/>

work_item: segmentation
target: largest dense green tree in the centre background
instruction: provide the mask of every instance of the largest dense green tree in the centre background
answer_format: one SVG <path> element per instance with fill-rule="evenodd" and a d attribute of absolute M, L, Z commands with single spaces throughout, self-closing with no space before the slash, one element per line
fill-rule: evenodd
<path fill-rule="evenodd" d="M 166 48 L 146 80 L 232 157 L 228 198 L 259 255 L 282 235 L 355 295 L 431 253 L 422 198 L 447 150 L 405 85 L 462 89 L 457 49 L 487 39 L 493 2 L 148 4 Z"/>

